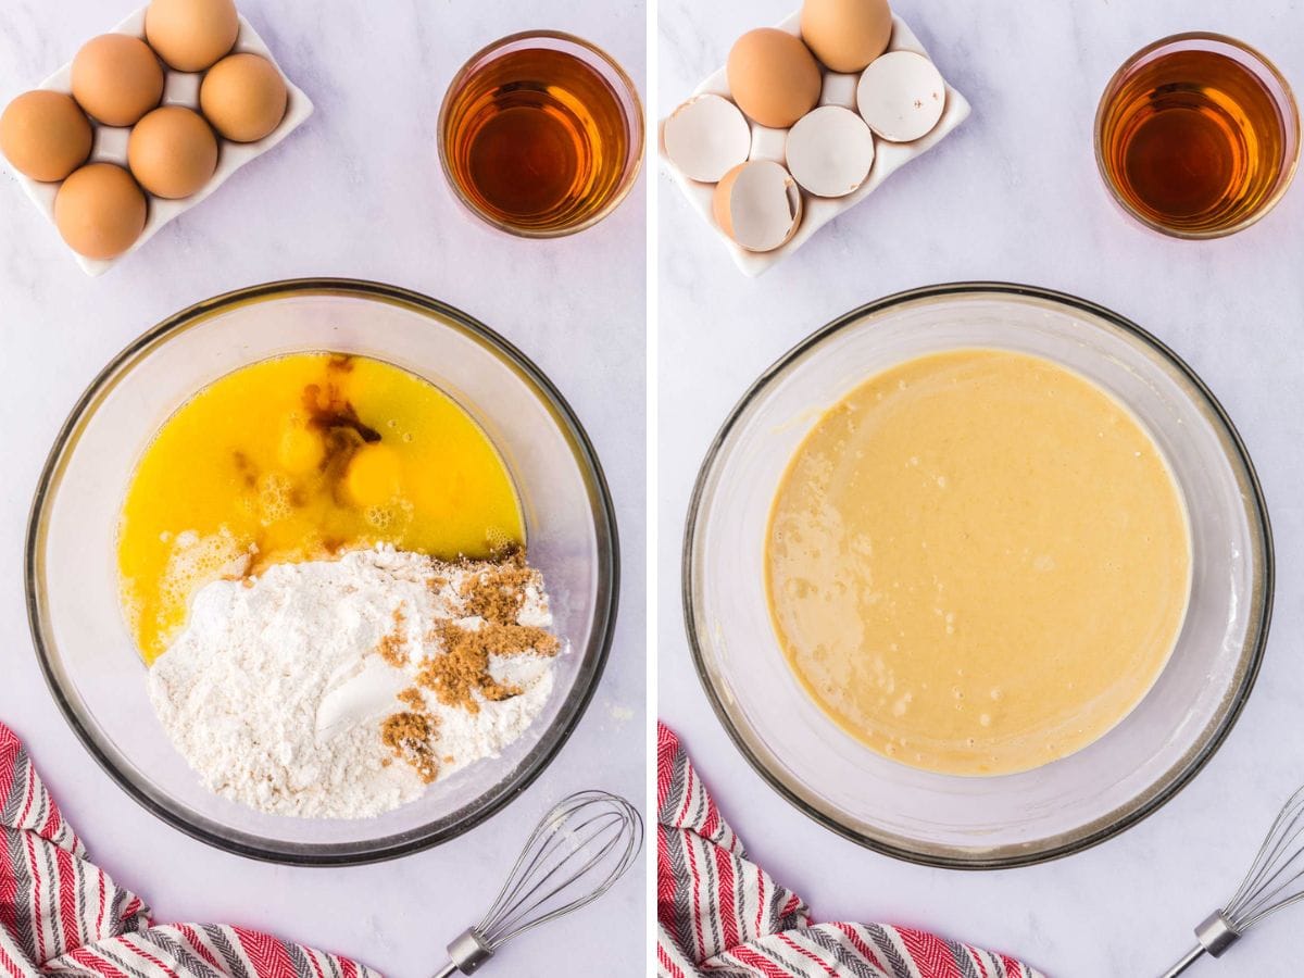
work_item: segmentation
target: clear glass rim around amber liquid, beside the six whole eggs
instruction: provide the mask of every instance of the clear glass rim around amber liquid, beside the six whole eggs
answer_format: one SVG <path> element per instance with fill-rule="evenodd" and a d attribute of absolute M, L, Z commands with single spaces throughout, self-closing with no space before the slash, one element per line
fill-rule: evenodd
<path fill-rule="evenodd" d="M 467 81 L 467 77 L 471 74 L 472 68 L 480 65 L 486 57 L 489 57 L 493 53 L 497 53 L 502 48 L 510 47 L 512 44 L 519 44 L 527 40 L 556 40 L 562 44 L 570 44 L 575 48 L 579 48 L 582 52 L 591 55 L 592 57 L 596 57 L 612 70 L 612 74 L 614 74 L 617 80 L 619 80 L 621 86 L 625 90 L 622 94 L 630 99 L 634 108 L 634 117 L 630 120 L 632 125 L 632 132 L 631 132 L 632 138 L 630 141 L 630 162 L 626 164 L 627 171 L 625 173 L 625 179 L 621 181 L 621 185 L 615 189 L 615 193 L 612 194 L 612 200 L 609 200 L 600 211 L 597 211 L 596 214 L 591 214 L 588 218 L 579 222 L 578 224 L 570 224 L 567 227 L 556 230 L 549 228 L 545 231 L 515 227 L 512 224 L 509 224 L 507 222 L 499 220 L 493 215 L 480 210 L 480 207 L 476 206 L 475 201 L 467 197 L 462 186 L 458 185 L 456 179 L 452 176 L 452 167 L 449 164 L 449 145 L 447 145 L 447 138 L 445 136 L 445 129 L 447 128 L 449 123 L 450 96 Z M 614 57 L 606 53 L 606 51 L 600 48 L 597 44 L 595 44 L 591 40 L 584 40 L 584 38 L 576 37 L 575 34 L 567 34 L 566 31 L 562 30 L 523 30 L 516 34 L 509 34 L 505 38 L 498 38 L 498 40 L 485 44 L 482 48 L 476 51 L 476 53 L 468 57 L 466 64 L 463 64 L 462 68 L 458 69 L 458 73 L 452 76 L 452 81 L 449 82 L 449 87 L 443 93 L 443 102 L 439 104 L 439 120 L 436 125 L 438 126 L 439 130 L 438 132 L 439 168 L 443 171 L 443 177 L 447 181 L 449 188 L 452 190 L 452 196 L 456 197 L 458 203 L 460 203 L 473 216 L 485 222 L 490 227 L 502 231 L 506 235 L 514 235 L 516 237 L 531 237 L 537 240 L 548 240 L 553 237 L 569 237 L 570 235 L 578 235 L 580 231 L 587 231 L 595 224 L 609 218 L 615 211 L 615 209 L 625 202 L 625 198 L 629 197 L 630 193 L 634 190 L 634 185 L 639 180 L 639 173 L 643 171 L 643 155 L 647 149 L 647 124 L 643 120 L 643 100 L 642 98 L 639 98 L 639 89 L 634 83 L 634 80 L 629 76 L 625 68 L 621 67 L 619 61 L 617 61 Z"/>

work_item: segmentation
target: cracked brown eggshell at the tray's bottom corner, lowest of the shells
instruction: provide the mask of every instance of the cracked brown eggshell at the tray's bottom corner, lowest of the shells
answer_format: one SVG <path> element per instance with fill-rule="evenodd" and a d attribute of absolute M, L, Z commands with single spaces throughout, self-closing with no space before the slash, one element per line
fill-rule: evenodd
<path fill-rule="evenodd" d="M 758 159 L 734 167 L 716 185 L 711 210 L 739 248 L 772 252 L 802 223 L 802 192 L 778 163 Z"/>

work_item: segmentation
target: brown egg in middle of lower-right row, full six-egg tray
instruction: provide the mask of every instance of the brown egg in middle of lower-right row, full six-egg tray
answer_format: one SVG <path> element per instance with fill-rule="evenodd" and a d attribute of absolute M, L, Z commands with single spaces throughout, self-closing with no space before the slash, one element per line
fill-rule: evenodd
<path fill-rule="evenodd" d="M 181 106 L 155 108 L 132 129 L 126 164 L 155 197 L 189 197 L 218 168 L 218 137 L 198 112 Z"/>

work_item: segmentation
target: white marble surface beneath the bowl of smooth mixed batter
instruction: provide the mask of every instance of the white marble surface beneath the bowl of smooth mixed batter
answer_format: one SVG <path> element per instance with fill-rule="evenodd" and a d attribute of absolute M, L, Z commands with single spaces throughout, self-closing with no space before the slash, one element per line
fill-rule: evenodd
<path fill-rule="evenodd" d="M 719 65 L 743 30 L 793 0 L 662 0 L 660 108 Z M 1304 782 L 1304 186 L 1257 227 L 1184 244 L 1121 216 L 1091 155 L 1091 119 L 1114 69 L 1181 30 L 1244 38 L 1304 86 L 1304 4 L 1262 0 L 898 0 L 970 119 L 859 207 L 759 280 L 745 279 L 670 179 L 660 218 L 660 699 L 752 854 L 820 919 L 885 919 L 1025 956 L 1055 978 L 1153 975 L 1235 888 L 1277 806 Z M 956 16 L 961 14 L 961 16 Z M 927 870 L 842 841 L 752 773 L 691 670 L 678 601 L 679 532 L 699 460 L 745 387 L 799 338 L 878 296 L 934 282 L 1009 279 L 1097 300 L 1157 333 L 1221 398 L 1258 467 L 1278 554 L 1277 615 L 1262 675 L 1208 769 L 1124 836 L 1048 866 Z M 1299 974 L 1286 911 L 1196 975 Z"/>

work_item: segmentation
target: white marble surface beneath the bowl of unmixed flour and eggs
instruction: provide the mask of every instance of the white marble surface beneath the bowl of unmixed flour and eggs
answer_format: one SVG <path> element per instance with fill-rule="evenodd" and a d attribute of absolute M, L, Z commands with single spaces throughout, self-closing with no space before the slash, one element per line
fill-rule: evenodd
<path fill-rule="evenodd" d="M 0 99 L 34 85 L 133 8 L 9 0 L 0 17 Z M 243 0 L 317 112 L 130 261 L 87 279 L 14 180 L 0 176 L 0 720 L 37 764 L 91 854 L 162 921 L 237 922 L 357 956 L 398 978 L 429 974 L 477 919 L 536 818 L 604 785 L 643 794 L 644 192 L 600 227 L 519 241 L 464 216 L 434 145 L 452 73 L 482 44 L 528 27 L 572 30 L 644 76 L 642 3 L 280 4 Z M 376 278 L 462 306 L 522 347 L 584 421 L 612 481 L 625 548 L 610 665 L 574 738 L 507 810 L 462 840 L 352 870 L 295 870 L 224 855 L 129 801 L 95 767 L 46 692 L 27 635 L 21 541 L 37 473 L 94 373 L 160 318 L 269 279 Z M 485 974 L 642 971 L 644 892 L 635 879 L 582 914 L 505 949 Z"/>

